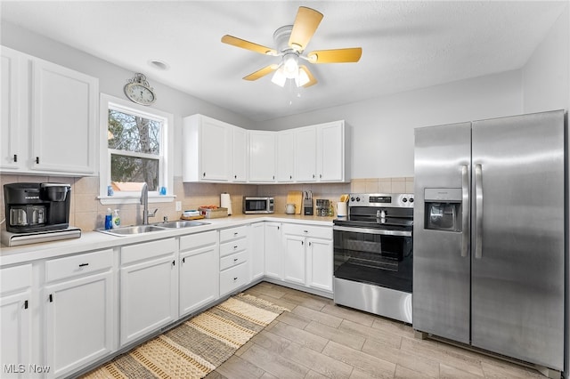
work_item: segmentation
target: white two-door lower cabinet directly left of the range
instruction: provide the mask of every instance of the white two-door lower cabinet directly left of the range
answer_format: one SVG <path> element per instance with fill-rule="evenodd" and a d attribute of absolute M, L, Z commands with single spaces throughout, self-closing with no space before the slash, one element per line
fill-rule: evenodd
<path fill-rule="evenodd" d="M 332 293 L 332 228 L 283 223 L 283 279 Z"/>

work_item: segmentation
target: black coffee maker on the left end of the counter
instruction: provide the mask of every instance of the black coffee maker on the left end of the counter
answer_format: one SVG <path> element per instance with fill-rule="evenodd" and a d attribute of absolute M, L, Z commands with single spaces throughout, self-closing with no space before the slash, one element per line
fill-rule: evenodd
<path fill-rule="evenodd" d="M 4 184 L 6 230 L 28 233 L 67 229 L 70 198 L 69 184 Z"/>

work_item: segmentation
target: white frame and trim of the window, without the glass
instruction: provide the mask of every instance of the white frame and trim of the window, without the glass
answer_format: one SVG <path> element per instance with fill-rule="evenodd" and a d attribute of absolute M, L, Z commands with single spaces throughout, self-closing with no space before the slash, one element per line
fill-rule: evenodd
<path fill-rule="evenodd" d="M 162 186 L 167 188 L 166 195 L 159 195 L 159 191 L 149 191 L 150 203 L 167 203 L 175 199 L 174 189 L 174 117 L 172 114 L 162 110 L 144 107 L 134 102 L 119 99 L 114 96 L 102 93 L 100 97 L 100 154 L 99 154 L 99 201 L 102 205 L 111 204 L 137 204 L 140 202 L 141 193 L 138 191 L 121 191 L 115 192 L 113 196 L 107 195 L 107 187 L 110 185 L 110 155 L 114 149 L 108 147 L 108 130 L 109 130 L 109 109 L 117 109 L 118 111 L 136 116 L 157 120 L 162 124 L 160 133 L 160 155 L 162 156 L 159 166 L 160 182 Z M 166 141 L 166 143 L 164 143 Z M 129 155 L 126 151 L 120 154 Z M 156 157 L 156 156 L 153 156 Z"/>

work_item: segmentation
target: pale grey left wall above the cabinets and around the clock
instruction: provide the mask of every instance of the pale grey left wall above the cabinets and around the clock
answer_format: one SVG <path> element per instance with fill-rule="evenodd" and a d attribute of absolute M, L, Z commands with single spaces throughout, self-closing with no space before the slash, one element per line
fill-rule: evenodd
<path fill-rule="evenodd" d="M 27 29 L 17 27 L 13 24 L 2 22 L 0 29 L 0 44 L 11 47 L 20 52 L 26 52 L 37 58 L 52 61 L 69 69 L 99 78 L 99 90 L 101 93 L 107 93 L 119 98 L 125 98 L 123 87 L 126 80 L 134 77 L 134 71 L 129 71 L 118 67 L 106 60 L 101 60 L 80 52 L 68 45 L 53 41 L 52 39 L 39 36 Z M 182 93 L 169 87 L 162 85 L 152 79 L 152 69 L 143 74 L 149 80 L 151 86 L 156 90 L 157 101 L 151 106 L 154 109 L 172 113 L 175 121 L 175 176 L 182 175 L 182 118 L 195 113 L 201 113 L 209 117 L 240 125 L 248 128 L 253 121 L 240 114 L 223 109 L 215 104 L 203 101 L 189 94 Z"/>

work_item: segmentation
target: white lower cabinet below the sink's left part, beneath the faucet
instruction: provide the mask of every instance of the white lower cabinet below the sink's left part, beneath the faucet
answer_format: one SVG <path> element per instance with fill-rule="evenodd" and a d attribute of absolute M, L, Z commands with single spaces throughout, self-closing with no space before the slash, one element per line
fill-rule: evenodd
<path fill-rule="evenodd" d="M 178 319 L 177 240 L 121 248 L 120 345 Z"/>

